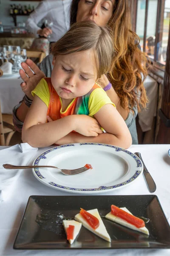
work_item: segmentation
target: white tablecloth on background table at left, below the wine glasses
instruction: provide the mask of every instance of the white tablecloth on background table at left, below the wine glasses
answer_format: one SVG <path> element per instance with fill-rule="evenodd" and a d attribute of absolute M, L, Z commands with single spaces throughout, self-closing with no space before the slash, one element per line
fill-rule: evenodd
<path fill-rule="evenodd" d="M 20 77 L 19 73 L 0 77 L 0 102 L 3 114 L 12 114 L 14 106 L 23 99 L 24 93 L 20 87 L 23 80 L 18 77 Z"/>

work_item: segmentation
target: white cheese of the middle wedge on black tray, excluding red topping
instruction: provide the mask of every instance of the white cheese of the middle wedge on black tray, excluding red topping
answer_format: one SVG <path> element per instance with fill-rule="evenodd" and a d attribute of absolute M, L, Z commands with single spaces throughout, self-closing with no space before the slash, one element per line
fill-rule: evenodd
<path fill-rule="evenodd" d="M 79 221 L 82 223 L 83 227 L 87 228 L 88 230 L 90 230 L 92 233 L 94 233 L 95 235 L 101 237 L 102 239 L 111 242 L 111 238 L 105 228 L 105 225 L 99 215 L 98 209 L 93 209 L 93 210 L 89 210 L 87 211 L 89 213 L 91 213 L 92 215 L 94 215 L 96 218 L 98 218 L 99 220 L 99 227 L 97 227 L 95 230 L 88 224 L 88 222 L 85 220 L 85 218 L 83 218 L 83 216 L 78 213 L 74 218 L 76 221 Z"/>

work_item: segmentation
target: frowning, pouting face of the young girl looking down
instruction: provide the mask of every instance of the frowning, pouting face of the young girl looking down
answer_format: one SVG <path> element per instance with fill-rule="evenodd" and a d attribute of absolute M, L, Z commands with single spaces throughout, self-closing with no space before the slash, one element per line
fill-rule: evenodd
<path fill-rule="evenodd" d="M 58 55 L 53 58 L 51 82 L 62 99 L 74 99 L 88 93 L 97 78 L 93 51 Z"/>

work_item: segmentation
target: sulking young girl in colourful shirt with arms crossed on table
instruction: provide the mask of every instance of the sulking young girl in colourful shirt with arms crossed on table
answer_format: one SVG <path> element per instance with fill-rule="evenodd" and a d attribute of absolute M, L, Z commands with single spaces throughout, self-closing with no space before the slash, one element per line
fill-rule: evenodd
<path fill-rule="evenodd" d="M 96 84 L 111 67 L 113 43 L 107 29 L 93 22 L 75 23 L 53 45 L 52 54 L 51 78 L 42 79 L 32 91 L 23 142 L 33 147 L 80 142 L 130 147 L 125 121 Z M 47 122 L 47 115 L 54 121 Z"/>

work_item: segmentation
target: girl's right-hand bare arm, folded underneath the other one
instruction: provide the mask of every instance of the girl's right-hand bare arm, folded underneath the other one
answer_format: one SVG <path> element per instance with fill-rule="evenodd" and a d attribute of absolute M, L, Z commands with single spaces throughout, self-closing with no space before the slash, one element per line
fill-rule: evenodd
<path fill-rule="evenodd" d="M 122 148 L 130 147 L 132 144 L 130 131 L 113 105 L 104 105 L 94 116 L 106 133 L 99 134 L 97 137 L 86 137 L 82 134 L 70 133 L 56 143 L 62 145 L 66 143 L 93 142 L 116 145 Z"/>

